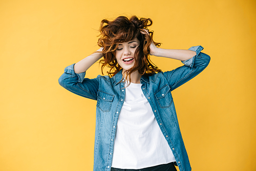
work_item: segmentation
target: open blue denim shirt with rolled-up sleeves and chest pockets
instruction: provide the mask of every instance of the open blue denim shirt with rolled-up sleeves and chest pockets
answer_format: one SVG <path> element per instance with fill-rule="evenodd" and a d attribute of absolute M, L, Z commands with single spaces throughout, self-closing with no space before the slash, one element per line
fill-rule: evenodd
<path fill-rule="evenodd" d="M 140 79 L 142 92 L 181 171 L 191 170 L 191 167 L 171 92 L 202 72 L 210 61 L 210 57 L 201 52 L 203 47 L 191 47 L 189 50 L 195 51 L 196 55 L 182 61 L 184 66 L 151 76 L 142 75 Z M 110 171 L 118 116 L 125 98 L 122 71 L 111 78 L 98 75 L 89 79 L 84 78 L 85 74 L 76 74 L 73 64 L 65 68 L 59 84 L 79 96 L 97 100 L 93 170 Z"/>

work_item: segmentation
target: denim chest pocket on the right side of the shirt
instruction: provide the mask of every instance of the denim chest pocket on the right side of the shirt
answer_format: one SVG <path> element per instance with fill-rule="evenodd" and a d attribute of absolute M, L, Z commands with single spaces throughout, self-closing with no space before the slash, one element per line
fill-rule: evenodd
<path fill-rule="evenodd" d="M 170 104 L 173 102 L 170 87 L 167 84 L 155 93 L 155 97 L 161 108 L 169 108 Z"/>

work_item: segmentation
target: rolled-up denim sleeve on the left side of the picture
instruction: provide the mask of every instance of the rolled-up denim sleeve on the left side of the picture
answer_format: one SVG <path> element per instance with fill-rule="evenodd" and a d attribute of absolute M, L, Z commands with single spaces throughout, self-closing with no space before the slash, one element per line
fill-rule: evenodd
<path fill-rule="evenodd" d="M 63 88 L 79 96 L 97 100 L 100 75 L 94 79 L 84 78 L 86 72 L 75 73 L 74 64 L 65 68 L 59 77 L 59 84 Z"/>

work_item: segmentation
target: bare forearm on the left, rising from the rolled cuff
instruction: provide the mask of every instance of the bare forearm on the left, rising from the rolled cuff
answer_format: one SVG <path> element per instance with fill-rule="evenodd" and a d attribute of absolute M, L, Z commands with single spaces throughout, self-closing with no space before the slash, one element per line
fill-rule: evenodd
<path fill-rule="evenodd" d="M 100 53 L 102 49 L 99 49 L 98 51 L 99 52 L 95 52 L 77 62 L 74 66 L 75 73 L 79 74 L 82 72 L 86 72 L 93 65 L 93 63 L 99 60 L 102 57 L 102 53 Z"/>

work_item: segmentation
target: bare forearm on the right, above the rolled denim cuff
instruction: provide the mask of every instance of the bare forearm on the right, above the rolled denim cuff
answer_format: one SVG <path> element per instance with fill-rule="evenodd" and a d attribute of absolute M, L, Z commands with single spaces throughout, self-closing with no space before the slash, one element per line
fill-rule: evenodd
<path fill-rule="evenodd" d="M 182 50 L 182 49 L 161 49 L 157 48 L 155 56 L 167 57 L 178 60 L 187 60 L 196 55 L 195 51 Z"/>

